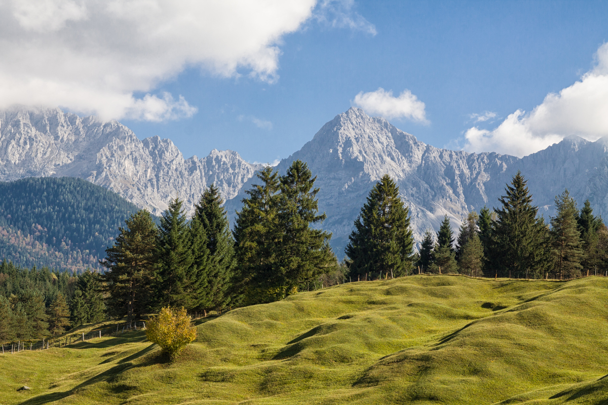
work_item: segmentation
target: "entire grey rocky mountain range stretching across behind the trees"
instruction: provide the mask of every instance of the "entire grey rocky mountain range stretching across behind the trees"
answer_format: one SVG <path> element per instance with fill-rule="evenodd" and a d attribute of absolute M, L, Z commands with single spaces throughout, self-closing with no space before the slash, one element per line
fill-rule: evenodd
<path fill-rule="evenodd" d="M 327 214 L 322 226 L 333 233 L 339 257 L 365 197 L 384 174 L 396 181 L 409 205 L 418 242 L 426 229 L 438 229 L 444 215 L 457 230 L 469 211 L 497 206 L 518 170 L 545 216 L 553 214 L 554 198 L 565 188 L 579 205 L 589 199 L 595 214 L 608 212 L 605 138 L 592 142 L 572 136 L 523 158 L 475 154 L 426 145 L 384 118 L 351 108 L 283 159 L 277 170 L 284 173 L 295 159 L 307 162 L 317 176 L 319 208 Z M 260 168 L 233 151 L 214 149 L 205 158 L 184 158 L 170 140 L 139 140 L 117 121 L 81 118 L 60 109 L 0 112 L 0 180 L 81 177 L 154 214 L 176 195 L 191 210 L 204 187 L 215 183 L 233 218 Z"/>

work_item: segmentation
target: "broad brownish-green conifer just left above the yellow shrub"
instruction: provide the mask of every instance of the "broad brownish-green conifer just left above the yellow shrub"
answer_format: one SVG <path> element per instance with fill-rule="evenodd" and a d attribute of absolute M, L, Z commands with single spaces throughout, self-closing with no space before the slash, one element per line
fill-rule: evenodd
<path fill-rule="evenodd" d="M 106 305 L 112 316 L 126 315 L 131 322 L 136 314 L 150 311 L 153 277 L 156 266 L 156 223 L 145 209 L 125 220 L 112 247 L 106 249 L 108 268 L 103 274 Z"/>

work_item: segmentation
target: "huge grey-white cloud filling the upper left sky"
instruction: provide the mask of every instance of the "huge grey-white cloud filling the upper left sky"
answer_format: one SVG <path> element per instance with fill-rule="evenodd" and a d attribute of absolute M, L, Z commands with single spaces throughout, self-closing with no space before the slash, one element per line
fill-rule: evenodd
<path fill-rule="evenodd" d="M 315 4 L 1 1 L 0 108 L 61 106 L 104 119 L 188 117 L 195 107 L 181 96 L 154 95 L 159 83 L 188 66 L 276 81 L 282 36 L 310 19 Z"/>

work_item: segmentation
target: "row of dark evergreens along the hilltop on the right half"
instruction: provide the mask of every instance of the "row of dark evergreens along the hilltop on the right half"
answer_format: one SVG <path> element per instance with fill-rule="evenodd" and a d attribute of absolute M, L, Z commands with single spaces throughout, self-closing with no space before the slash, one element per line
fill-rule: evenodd
<path fill-rule="evenodd" d="M 418 270 L 569 279 L 585 275 L 584 269 L 608 267 L 608 228 L 593 215 L 589 200 L 579 211 L 565 189 L 555 197 L 556 215 L 546 222 L 521 172 L 506 185 L 498 208 L 469 213 L 456 238 L 444 216 L 437 233 L 426 231 L 418 253 L 413 253 L 409 210 L 398 192 L 385 175 L 367 197 L 346 248 L 351 278 L 381 271 L 404 276 Z"/>

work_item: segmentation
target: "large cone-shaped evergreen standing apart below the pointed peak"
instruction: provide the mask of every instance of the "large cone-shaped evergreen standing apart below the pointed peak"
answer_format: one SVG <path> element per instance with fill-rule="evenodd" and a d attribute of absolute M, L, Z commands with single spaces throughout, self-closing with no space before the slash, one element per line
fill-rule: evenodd
<path fill-rule="evenodd" d="M 348 239 L 345 253 L 351 276 L 380 271 L 402 276 L 412 267 L 409 208 L 389 175 L 371 189 Z"/>

